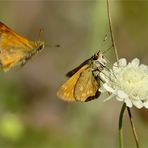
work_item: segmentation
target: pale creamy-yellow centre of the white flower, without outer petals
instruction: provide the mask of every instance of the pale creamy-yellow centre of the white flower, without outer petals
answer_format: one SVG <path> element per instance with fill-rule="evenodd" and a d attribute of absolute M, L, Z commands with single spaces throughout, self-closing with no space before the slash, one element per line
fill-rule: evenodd
<path fill-rule="evenodd" d="M 148 72 L 140 67 L 125 67 L 115 72 L 113 80 L 130 99 L 148 100 Z M 113 84 L 114 85 L 114 84 Z M 117 87 L 117 86 L 115 86 Z"/>

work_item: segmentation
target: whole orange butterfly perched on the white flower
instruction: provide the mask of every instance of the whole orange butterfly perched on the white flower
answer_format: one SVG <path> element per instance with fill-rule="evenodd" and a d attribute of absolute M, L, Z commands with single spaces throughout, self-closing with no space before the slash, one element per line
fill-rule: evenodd
<path fill-rule="evenodd" d="M 66 74 L 69 79 L 59 88 L 57 96 L 65 101 L 87 102 L 100 96 L 100 72 L 107 61 L 99 51 Z"/>

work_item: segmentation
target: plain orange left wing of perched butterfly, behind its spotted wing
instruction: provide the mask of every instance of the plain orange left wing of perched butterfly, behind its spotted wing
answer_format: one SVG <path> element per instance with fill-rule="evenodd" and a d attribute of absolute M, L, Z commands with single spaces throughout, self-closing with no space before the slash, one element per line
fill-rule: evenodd
<path fill-rule="evenodd" d="M 83 71 L 85 71 L 89 65 L 84 65 L 78 70 L 72 77 L 70 77 L 58 90 L 57 96 L 65 101 L 76 101 L 75 87 L 79 80 L 79 77 Z"/>

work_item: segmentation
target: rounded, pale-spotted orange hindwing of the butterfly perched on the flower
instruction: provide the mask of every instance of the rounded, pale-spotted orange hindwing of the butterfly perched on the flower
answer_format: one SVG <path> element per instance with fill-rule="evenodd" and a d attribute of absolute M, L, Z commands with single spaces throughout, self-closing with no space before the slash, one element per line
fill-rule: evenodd
<path fill-rule="evenodd" d="M 77 101 L 87 101 L 92 100 L 92 98 L 97 97 L 99 83 L 95 80 L 92 70 L 88 67 L 85 71 L 83 71 L 77 81 L 75 87 L 75 98 Z"/>

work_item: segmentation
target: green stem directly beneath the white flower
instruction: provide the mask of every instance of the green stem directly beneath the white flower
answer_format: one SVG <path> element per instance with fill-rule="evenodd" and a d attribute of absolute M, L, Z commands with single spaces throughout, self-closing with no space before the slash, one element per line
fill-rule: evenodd
<path fill-rule="evenodd" d="M 123 132 L 122 132 L 122 123 L 123 123 L 123 114 L 126 108 L 126 104 L 124 103 L 121 111 L 120 111 L 120 116 L 119 116 L 119 128 L 118 128 L 118 132 L 119 132 L 119 148 L 123 148 Z"/>

